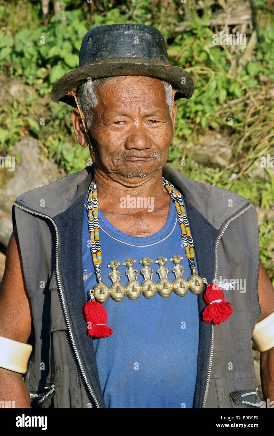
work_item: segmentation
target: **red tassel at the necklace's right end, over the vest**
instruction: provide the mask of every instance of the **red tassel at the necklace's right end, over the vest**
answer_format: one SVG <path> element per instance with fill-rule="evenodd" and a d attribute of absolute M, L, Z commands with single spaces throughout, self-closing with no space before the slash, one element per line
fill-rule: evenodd
<path fill-rule="evenodd" d="M 224 301 L 223 291 L 214 283 L 207 284 L 203 298 L 207 304 L 203 311 L 203 320 L 207 323 L 213 321 L 214 325 L 220 324 L 221 321 L 226 321 L 233 312 L 231 303 Z"/>

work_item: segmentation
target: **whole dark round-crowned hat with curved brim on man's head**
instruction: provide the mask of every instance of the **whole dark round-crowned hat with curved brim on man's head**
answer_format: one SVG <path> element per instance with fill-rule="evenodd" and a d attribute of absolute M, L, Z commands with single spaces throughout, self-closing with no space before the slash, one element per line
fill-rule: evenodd
<path fill-rule="evenodd" d="M 171 83 L 174 100 L 190 99 L 194 92 L 191 75 L 169 65 L 166 43 L 155 27 L 143 24 L 109 24 L 88 31 L 81 44 L 79 67 L 64 74 L 51 89 L 51 100 L 76 106 L 66 95 L 90 79 L 112 76 L 149 76 Z"/>

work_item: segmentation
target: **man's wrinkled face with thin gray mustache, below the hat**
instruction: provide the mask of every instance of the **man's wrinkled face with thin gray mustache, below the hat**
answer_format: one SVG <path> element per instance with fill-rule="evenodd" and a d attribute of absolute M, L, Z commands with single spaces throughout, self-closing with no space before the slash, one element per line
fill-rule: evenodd
<path fill-rule="evenodd" d="M 141 76 L 110 79 L 97 90 L 89 132 L 95 168 L 123 177 L 147 177 L 166 163 L 173 119 L 160 80 Z"/>

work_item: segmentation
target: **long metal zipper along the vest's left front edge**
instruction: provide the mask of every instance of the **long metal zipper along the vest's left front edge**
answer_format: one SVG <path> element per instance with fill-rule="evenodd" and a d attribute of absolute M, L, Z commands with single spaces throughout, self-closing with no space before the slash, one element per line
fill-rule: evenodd
<path fill-rule="evenodd" d="M 63 306 L 63 310 L 64 310 L 64 315 L 65 315 L 66 323 L 67 323 L 67 326 L 68 326 L 68 332 L 69 332 L 69 335 L 70 335 L 70 338 L 71 338 L 71 343 L 72 343 L 72 346 L 73 346 L 73 349 L 74 349 L 74 352 L 75 352 L 75 356 L 76 356 L 77 361 L 78 361 L 79 368 L 81 370 L 81 374 L 82 374 L 82 376 L 83 376 L 83 378 L 85 380 L 85 383 L 86 383 L 86 386 L 88 388 L 88 391 L 91 393 L 91 396 L 92 396 L 92 398 L 93 398 L 93 400 L 94 400 L 94 402 L 96 404 L 96 407 L 99 408 L 100 406 L 99 406 L 98 400 L 97 400 L 97 398 L 95 396 L 95 393 L 91 389 L 91 386 L 89 385 L 88 379 L 87 379 L 87 377 L 85 375 L 85 371 L 84 371 L 82 362 L 80 360 L 80 356 L 78 354 L 78 350 L 76 348 L 74 337 L 72 335 L 71 326 L 70 326 L 69 320 L 68 320 L 68 311 L 67 311 L 67 308 L 66 308 L 66 305 L 65 305 L 65 301 L 64 301 L 64 295 L 63 295 L 63 291 L 62 291 L 62 288 L 61 288 L 61 281 L 60 281 L 60 275 L 59 275 L 59 269 L 58 269 L 58 259 L 59 259 L 59 257 L 58 257 L 58 254 L 59 254 L 58 253 L 58 242 L 59 242 L 59 233 L 58 233 L 57 225 L 55 224 L 54 220 L 52 218 L 50 218 L 49 216 L 47 216 L 47 215 L 43 215 L 43 214 L 40 214 L 38 212 L 30 211 L 27 208 L 23 208 L 22 206 L 19 206 L 15 202 L 13 204 L 17 208 L 22 209 L 23 211 L 29 212 L 30 214 L 38 215 L 38 216 L 41 216 L 43 218 L 48 218 L 52 222 L 52 224 L 54 225 L 54 228 L 55 228 L 55 231 L 56 231 L 56 259 L 57 259 L 57 262 L 56 262 L 56 274 L 57 274 L 58 286 L 59 286 L 59 290 L 60 290 L 60 296 L 61 296 L 61 300 L 62 300 L 62 306 Z"/>

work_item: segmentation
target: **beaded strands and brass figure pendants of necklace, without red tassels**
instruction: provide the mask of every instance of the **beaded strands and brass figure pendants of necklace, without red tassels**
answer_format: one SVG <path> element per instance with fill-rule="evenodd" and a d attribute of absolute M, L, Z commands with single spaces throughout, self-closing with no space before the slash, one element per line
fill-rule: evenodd
<path fill-rule="evenodd" d="M 163 298 L 167 298 L 171 295 L 172 291 L 174 291 L 174 293 L 176 293 L 178 296 L 184 296 L 188 289 L 196 295 L 202 292 L 203 285 L 204 283 L 207 283 L 207 280 L 206 278 L 202 279 L 200 276 L 198 276 L 196 271 L 193 238 L 191 236 L 189 222 L 186 217 L 186 209 L 183 203 L 183 198 L 179 191 L 177 191 L 172 184 L 166 181 L 164 177 L 162 177 L 162 182 L 163 186 L 166 188 L 170 197 L 175 203 L 177 219 L 182 233 L 182 243 L 185 248 L 186 257 L 189 261 L 192 275 L 187 280 L 183 278 L 183 272 L 185 269 L 183 266 L 180 266 L 180 262 L 183 257 L 180 255 L 174 255 L 170 261 L 172 261 L 175 265 L 172 269 L 172 272 L 175 274 L 176 278 L 173 280 L 173 282 L 171 282 L 167 278 L 169 269 L 165 267 L 167 259 L 160 256 L 155 261 L 155 263 L 159 265 L 159 268 L 156 270 L 156 273 L 159 275 L 159 280 L 157 283 L 155 283 L 154 280 L 152 280 L 154 271 L 152 268 L 150 268 L 150 264 L 153 262 L 153 260 L 145 256 L 139 261 L 139 263 L 141 263 L 143 266 L 140 272 L 144 277 L 141 285 L 137 281 L 139 272 L 137 269 L 133 268 L 136 261 L 131 258 L 128 258 L 125 260 L 125 262 L 123 262 L 123 265 L 128 267 L 128 269 L 125 271 L 125 274 L 129 279 L 129 283 L 127 283 L 126 286 L 120 283 L 122 273 L 118 271 L 118 267 L 121 265 L 121 263 L 115 260 L 112 260 L 108 265 L 108 268 L 112 269 L 112 272 L 110 272 L 108 275 L 108 277 L 112 280 L 112 285 L 110 288 L 108 288 L 105 283 L 102 283 L 102 253 L 99 240 L 98 190 L 95 179 L 93 179 L 88 188 L 88 230 L 90 233 L 92 261 L 95 267 L 95 274 L 98 283 L 93 289 L 89 290 L 91 300 L 95 298 L 98 302 L 104 303 L 106 300 L 108 300 L 108 297 L 111 296 L 115 301 L 122 301 L 125 295 L 127 295 L 130 300 L 137 300 L 141 293 L 145 296 L 145 298 L 150 299 L 156 294 L 156 292 L 158 292 Z"/>

